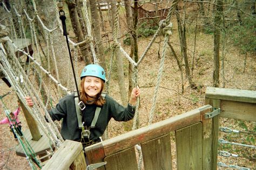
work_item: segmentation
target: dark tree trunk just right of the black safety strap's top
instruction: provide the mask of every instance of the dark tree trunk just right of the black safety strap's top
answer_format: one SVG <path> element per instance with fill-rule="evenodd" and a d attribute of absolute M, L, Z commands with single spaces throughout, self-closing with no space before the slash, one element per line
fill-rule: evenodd
<path fill-rule="evenodd" d="M 77 41 L 82 42 L 85 39 L 84 39 L 83 31 L 82 31 L 82 26 L 80 25 L 80 22 L 79 22 L 76 2 L 69 1 L 68 8 L 69 8 L 69 16 L 70 16 L 70 20 L 71 20 L 71 25 L 72 25 L 74 33 L 76 34 Z M 79 47 L 81 49 L 81 53 L 83 55 L 84 61 L 86 62 L 86 65 L 89 65 L 90 63 L 92 63 L 92 61 L 91 61 L 91 56 L 89 55 L 90 52 L 88 51 L 87 48 L 84 48 L 86 46 L 87 46 L 87 44 L 85 43 L 85 44 L 80 45 Z"/>

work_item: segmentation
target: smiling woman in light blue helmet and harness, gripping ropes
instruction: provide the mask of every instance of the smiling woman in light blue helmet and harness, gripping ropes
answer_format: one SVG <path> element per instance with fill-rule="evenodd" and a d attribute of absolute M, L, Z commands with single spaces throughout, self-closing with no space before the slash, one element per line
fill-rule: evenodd
<path fill-rule="evenodd" d="M 80 141 L 86 147 L 101 141 L 99 137 L 111 118 L 119 122 L 133 118 L 140 89 L 132 90 L 129 104 L 123 107 L 109 95 L 103 95 L 106 77 L 101 66 L 85 66 L 80 79 L 79 96 L 85 105 L 85 109 L 80 110 L 82 117 L 79 118 L 77 114 L 75 94 L 66 95 L 48 112 L 52 121 L 63 119 L 60 133 L 64 139 Z M 30 97 L 25 97 L 25 100 L 30 107 L 33 106 Z M 82 126 L 79 126 L 79 122 L 82 122 Z"/>

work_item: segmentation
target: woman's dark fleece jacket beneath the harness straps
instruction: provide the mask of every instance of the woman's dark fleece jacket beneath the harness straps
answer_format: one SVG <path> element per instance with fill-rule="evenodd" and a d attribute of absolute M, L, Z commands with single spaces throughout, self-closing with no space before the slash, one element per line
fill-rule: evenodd
<path fill-rule="evenodd" d="M 56 105 L 56 108 L 49 110 L 49 114 L 52 121 L 60 121 L 60 119 L 63 118 L 60 134 L 62 134 L 64 139 L 79 141 L 81 139 L 82 130 L 78 128 L 74 97 L 75 95 L 71 94 L 60 99 L 59 103 Z M 127 105 L 125 108 L 113 100 L 113 98 L 109 95 L 106 95 L 105 101 L 105 104 L 100 110 L 95 128 L 90 129 L 90 140 L 98 139 L 100 136 L 102 136 L 111 118 L 114 118 L 114 120 L 120 122 L 129 121 L 134 117 L 135 109 L 133 109 L 130 105 Z M 91 125 L 92 119 L 95 115 L 95 110 L 95 104 L 87 104 L 86 108 L 82 112 L 83 116 L 85 116 L 83 118 L 85 118 L 87 127 Z M 82 122 L 84 121 L 82 120 Z"/>

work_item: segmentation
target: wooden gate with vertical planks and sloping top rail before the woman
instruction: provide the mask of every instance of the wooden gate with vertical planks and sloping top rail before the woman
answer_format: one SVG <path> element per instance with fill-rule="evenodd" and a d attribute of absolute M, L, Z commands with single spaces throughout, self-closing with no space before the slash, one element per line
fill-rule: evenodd
<path fill-rule="evenodd" d="M 145 169 L 172 169 L 171 137 L 175 132 L 178 169 L 208 169 L 211 128 L 205 119 L 212 107 L 186 112 L 85 148 L 90 164 L 106 161 L 98 169 L 137 169 L 134 146 L 140 144 Z"/>

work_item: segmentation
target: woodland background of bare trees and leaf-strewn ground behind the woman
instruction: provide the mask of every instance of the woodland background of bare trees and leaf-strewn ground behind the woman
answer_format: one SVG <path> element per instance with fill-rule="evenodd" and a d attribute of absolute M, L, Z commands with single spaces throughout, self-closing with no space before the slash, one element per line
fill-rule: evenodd
<path fill-rule="evenodd" d="M 1 1 L 0 1 L 1 2 Z M 5 4 L 14 4 L 18 10 L 26 9 L 32 15 L 32 1 L 2 1 Z M 56 17 L 57 1 L 35 1 L 37 12 L 43 22 L 53 28 L 59 18 Z M 102 5 L 101 10 L 97 6 Z M 125 51 L 138 61 L 139 56 L 152 39 L 158 28 L 158 23 L 167 15 L 172 1 L 122 1 L 119 13 L 118 41 Z M 123 57 L 116 56 L 110 71 L 109 65 L 112 54 L 113 21 L 116 13 L 116 1 L 87 1 L 90 22 L 93 30 L 93 44 L 96 53 L 107 74 L 111 74 L 109 94 L 118 102 L 126 105 L 129 91 L 134 87 L 132 81 L 132 65 Z M 6 5 L 8 6 L 8 5 Z M 2 8 L 3 6 L 0 6 Z M 104 10 L 107 8 L 109 10 Z M 65 1 L 64 11 L 69 38 L 76 42 L 86 39 L 86 24 L 83 18 L 83 1 Z M 152 12 L 153 11 L 153 12 Z M 0 11 L 2 12 L 2 11 Z M 256 90 L 256 39 L 255 39 L 255 1 L 179 1 L 178 8 L 173 13 L 171 22 L 172 35 L 169 44 L 172 48 L 166 49 L 163 77 L 158 91 L 157 105 L 153 122 L 182 114 L 204 105 L 204 93 L 208 86 Z M 2 15 L 1 13 L 1 16 Z M 4 18 L 0 18 L 2 24 Z M 43 44 L 43 31 L 37 27 L 38 37 Z M 59 34 L 62 34 L 61 32 Z M 29 36 L 29 31 L 28 31 Z M 56 35 L 55 41 L 59 44 L 59 56 L 68 55 L 63 39 Z M 142 90 L 139 105 L 138 128 L 148 124 L 149 111 L 152 105 L 154 88 L 156 87 L 159 62 L 163 47 L 163 36 L 158 36 L 145 59 L 139 65 L 138 86 Z M 72 51 L 72 55 L 74 55 Z M 91 63 L 92 53 L 89 45 L 79 46 L 79 69 Z M 60 61 L 60 79 L 62 83 L 68 80 L 65 76 L 66 67 Z M 79 76 L 79 75 L 77 75 Z M 67 83 L 68 84 L 68 83 Z M 0 82 L 0 91 L 3 95 L 11 88 Z M 58 97 L 56 97 L 57 99 Z M 53 101 L 53 105 L 58 100 Z M 16 95 L 11 93 L 4 97 L 4 102 L 11 110 L 15 110 Z M 3 109 L 0 118 L 4 118 Z M 26 129 L 23 114 L 19 116 Z M 109 124 L 109 138 L 118 136 L 131 130 L 132 123 Z M 221 119 L 221 125 L 241 131 L 255 133 L 255 122 Z M 25 158 L 15 154 L 15 141 L 8 125 L 0 126 L 0 169 L 29 169 Z M 255 135 L 223 134 L 220 137 L 236 143 L 255 145 Z M 255 149 L 245 149 L 231 145 L 219 146 L 231 153 L 239 154 L 239 158 L 219 157 L 219 161 L 228 165 L 238 165 L 255 169 Z M 175 156 L 175 152 L 173 153 Z M 173 162 L 173 165 L 176 165 Z M 219 167 L 219 169 L 223 169 Z"/>

